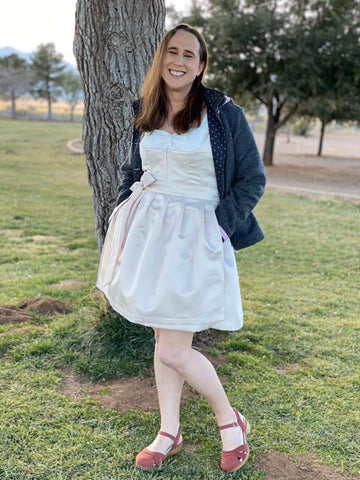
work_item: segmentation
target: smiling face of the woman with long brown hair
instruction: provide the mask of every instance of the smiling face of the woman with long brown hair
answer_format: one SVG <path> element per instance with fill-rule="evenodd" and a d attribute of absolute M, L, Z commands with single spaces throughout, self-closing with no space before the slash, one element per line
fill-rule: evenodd
<path fill-rule="evenodd" d="M 203 68 L 199 40 L 186 30 L 178 30 L 170 38 L 163 57 L 161 76 L 166 88 L 188 93 Z"/>

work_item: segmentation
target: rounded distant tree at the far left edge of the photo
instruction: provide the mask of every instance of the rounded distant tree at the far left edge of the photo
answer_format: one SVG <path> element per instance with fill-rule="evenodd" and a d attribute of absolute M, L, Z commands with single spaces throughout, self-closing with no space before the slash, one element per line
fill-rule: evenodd
<path fill-rule="evenodd" d="M 33 74 L 26 60 L 17 54 L 0 58 L 0 95 L 11 100 L 11 117 L 16 118 L 16 100 L 31 87 Z"/>

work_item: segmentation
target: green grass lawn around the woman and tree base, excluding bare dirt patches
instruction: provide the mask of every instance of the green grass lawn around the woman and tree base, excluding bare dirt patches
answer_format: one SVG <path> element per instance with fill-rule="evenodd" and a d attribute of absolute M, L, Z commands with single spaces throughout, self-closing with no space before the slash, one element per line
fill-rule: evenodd
<path fill-rule="evenodd" d="M 157 431 L 157 412 L 129 405 L 119 415 L 60 393 L 64 366 L 92 380 L 148 373 L 152 335 L 112 315 L 96 294 L 85 159 L 66 148 L 81 126 L 2 120 L 0 128 L 0 303 L 50 295 L 71 306 L 68 315 L 34 314 L 26 334 L 0 326 L 0 478 L 228 478 L 204 400 L 182 407 L 184 440 L 199 446 L 196 454 L 144 473 L 134 458 Z M 266 239 L 236 253 L 244 328 L 211 348 L 227 355 L 218 372 L 253 426 L 251 458 L 232 478 L 264 478 L 255 456 L 274 449 L 310 451 L 360 473 L 360 206 L 269 191 L 256 214 Z M 83 283 L 54 288 L 66 279 Z M 297 368 L 286 375 L 282 364 Z"/>

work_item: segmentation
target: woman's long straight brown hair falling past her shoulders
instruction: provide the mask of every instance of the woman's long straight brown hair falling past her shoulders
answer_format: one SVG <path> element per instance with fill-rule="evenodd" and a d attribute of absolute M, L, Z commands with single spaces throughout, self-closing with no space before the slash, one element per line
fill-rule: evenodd
<path fill-rule="evenodd" d="M 192 127 L 200 126 L 201 111 L 204 106 L 202 79 L 208 66 L 208 51 L 202 35 L 186 23 L 180 23 L 169 30 L 161 40 L 156 50 L 153 63 L 143 83 L 140 108 L 134 119 L 135 127 L 142 132 L 152 132 L 156 128 L 160 128 L 167 117 L 168 102 L 165 82 L 161 77 L 161 69 L 169 40 L 178 30 L 186 30 L 198 39 L 200 43 L 200 64 L 203 62 L 204 68 L 200 75 L 194 79 L 184 108 L 174 116 L 173 129 L 176 133 L 180 134 L 187 132 Z"/>

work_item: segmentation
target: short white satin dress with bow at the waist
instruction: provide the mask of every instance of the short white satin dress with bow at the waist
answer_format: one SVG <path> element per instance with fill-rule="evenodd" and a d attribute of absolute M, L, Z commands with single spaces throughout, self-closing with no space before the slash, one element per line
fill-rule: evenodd
<path fill-rule="evenodd" d="M 96 286 L 127 320 L 198 332 L 238 330 L 243 311 L 235 254 L 222 241 L 207 116 L 178 135 L 140 142 L 144 171 L 112 212 Z"/>

